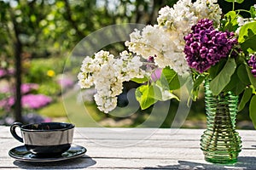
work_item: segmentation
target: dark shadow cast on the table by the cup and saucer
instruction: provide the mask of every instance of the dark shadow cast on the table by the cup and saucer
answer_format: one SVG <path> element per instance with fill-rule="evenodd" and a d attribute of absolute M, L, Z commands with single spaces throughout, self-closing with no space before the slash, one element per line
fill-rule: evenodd
<path fill-rule="evenodd" d="M 51 161 L 51 162 L 28 162 L 28 161 L 14 161 L 15 166 L 24 169 L 30 168 L 61 168 L 61 169 L 70 169 L 70 168 L 85 168 L 90 167 L 96 164 L 90 156 L 83 156 L 76 159 L 71 159 L 67 161 Z"/>

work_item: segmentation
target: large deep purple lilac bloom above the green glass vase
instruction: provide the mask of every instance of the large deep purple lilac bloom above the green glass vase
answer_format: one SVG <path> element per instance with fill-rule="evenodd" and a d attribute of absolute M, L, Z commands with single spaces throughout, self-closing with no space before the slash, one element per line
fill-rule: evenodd
<path fill-rule="evenodd" d="M 214 30 L 212 20 L 199 20 L 191 30 L 184 37 L 184 54 L 188 65 L 200 73 L 228 57 L 230 49 L 237 44 L 233 32 Z"/>

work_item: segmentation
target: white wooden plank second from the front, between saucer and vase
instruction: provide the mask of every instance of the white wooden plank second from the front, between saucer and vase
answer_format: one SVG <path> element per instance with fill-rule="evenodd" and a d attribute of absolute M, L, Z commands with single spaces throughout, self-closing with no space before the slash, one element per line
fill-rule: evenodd
<path fill-rule="evenodd" d="M 181 160 L 189 158 L 190 160 L 203 159 L 200 148 L 146 148 L 146 147 L 125 147 L 110 148 L 99 146 L 85 146 L 86 155 L 94 158 L 143 158 L 143 159 L 174 159 Z M 0 158 L 9 158 L 10 148 L 1 150 Z M 242 150 L 240 156 L 255 156 L 256 150 Z"/>

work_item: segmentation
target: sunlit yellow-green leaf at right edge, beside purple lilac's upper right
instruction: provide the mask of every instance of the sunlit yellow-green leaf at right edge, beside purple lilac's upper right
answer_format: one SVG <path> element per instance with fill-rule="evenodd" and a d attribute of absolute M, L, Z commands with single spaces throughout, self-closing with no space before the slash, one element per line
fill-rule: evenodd
<path fill-rule="evenodd" d="M 244 51 L 247 49 L 253 49 L 256 51 L 256 22 L 250 22 L 241 26 L 239 31 L 238 42 L 241 44 L 241 48 Z"/>

